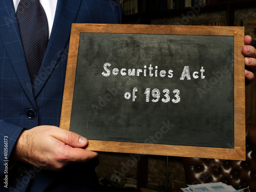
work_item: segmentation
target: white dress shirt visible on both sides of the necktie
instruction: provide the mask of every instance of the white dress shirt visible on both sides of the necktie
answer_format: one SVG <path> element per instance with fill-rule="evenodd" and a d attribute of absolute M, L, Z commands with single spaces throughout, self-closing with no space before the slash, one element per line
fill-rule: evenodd
<path fill-rule="evenodd" d="M 13 5 L 15 12 L 18 7 L 18 3 L 20 0 L 13 0 Z M 40 0 L 40 3 L 42 7 L 44 7 L 47 20 L 48 20 L 48 28 L 49 28 L 49 37 L 52 31 L 52 26 L 53 26 L 53 20 L 54 20 L 54 15 L 57 7 L 57 0 Z"/>

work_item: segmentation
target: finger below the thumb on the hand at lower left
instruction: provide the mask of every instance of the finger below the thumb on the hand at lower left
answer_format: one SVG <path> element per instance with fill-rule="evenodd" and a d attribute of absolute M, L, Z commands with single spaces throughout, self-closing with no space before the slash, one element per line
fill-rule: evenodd
<path fill-rule="evenodd" d="M 98 156 L 97 152 L 84 150 L 83 148 L 73 148 L 66 145 L 66 156 L 72 162 L 86 162 Z"/>

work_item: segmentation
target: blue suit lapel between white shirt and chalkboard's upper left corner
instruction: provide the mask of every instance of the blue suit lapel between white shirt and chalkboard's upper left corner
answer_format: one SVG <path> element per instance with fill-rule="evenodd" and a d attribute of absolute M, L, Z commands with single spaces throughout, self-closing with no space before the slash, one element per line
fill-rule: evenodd
<path fill-rule="evenodd" d="M 51 36 L 45 58 L 39 70 L 33 89 L 36 97 L 44 87 L 53 69 L 58 63 L 61 54 L 70 39 L 71 24 L 75 23 L 81 0 L 58 0 Z"/>

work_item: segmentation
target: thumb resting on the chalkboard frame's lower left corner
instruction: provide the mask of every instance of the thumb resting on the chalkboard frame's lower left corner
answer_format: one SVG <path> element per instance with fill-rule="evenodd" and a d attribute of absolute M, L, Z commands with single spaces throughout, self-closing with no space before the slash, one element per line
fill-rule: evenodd
<path fill-rule="evenodd" d="M 72 147 L 84 147 L 88 144 L 86 138 L 76 133 L 60 129 L 59 127 L 56 127 L 56 129 L 51 132 L 51 136 Z"/>

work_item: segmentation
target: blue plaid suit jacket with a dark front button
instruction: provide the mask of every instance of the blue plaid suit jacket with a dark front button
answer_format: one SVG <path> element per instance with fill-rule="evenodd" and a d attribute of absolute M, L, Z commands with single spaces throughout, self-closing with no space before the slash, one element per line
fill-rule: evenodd
<path fill-rule="evenodd" d="M 1 189 L 6 189 L 2 186 L 6 175 L 11 191 L 43 191 L 60 175 L 66 174 L 65 170 L 57 173 L 36 171 L 35 167 L 22 163 L 8 170 L 5 164 L 23 129 L 38 125 L 59 126 L 71 24 L 116 24 L 121 22 L 121 15 L 122 10 L 115 0 L 58 0 L 46 55 L 32 88 L 13 1 L 0 0 Z M 34 119 L 26 116 L 26 111 L 30 109 L 36 113 Z M 8 153 L 4 153 L 4 139 L 8 140 Z M 26 176 L 20 176 L 20 167 L 26 168 Z M 84 172 L 88 172 L 87 168 Z M 8 174 L 5 174 L 6 171 Z"/>

